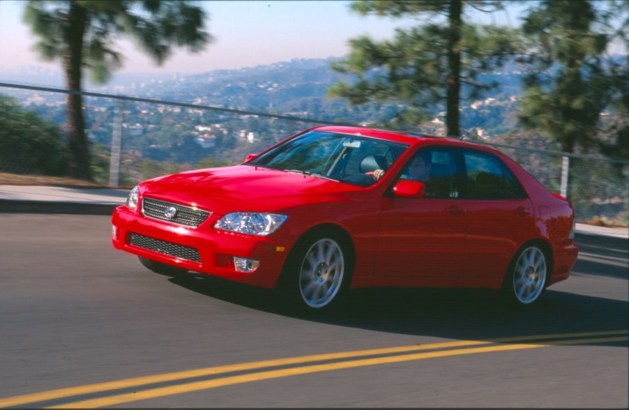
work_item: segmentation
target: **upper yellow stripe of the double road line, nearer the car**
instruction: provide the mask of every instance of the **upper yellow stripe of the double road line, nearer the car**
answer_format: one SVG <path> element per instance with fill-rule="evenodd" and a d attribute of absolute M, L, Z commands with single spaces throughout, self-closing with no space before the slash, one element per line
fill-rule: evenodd
<path fill-rule="evenodd" d="M 130 387 L 135 387 L 135 386 L 156 384 L 156 383 L 166 382 L 166 381 L 190 379 L 194 377 L 211 376 L 211 375 L 222 374 L 222 373 L 227 373 L 227 372 L 255 370 L 255 369 L 271 367 L 271 366 L 309 363 L 309 362 L 321 361 L 321 360 L 338 360 L 338 359 L 352 358 L 352 357 L 358 357 L 358 356 L 396 354 L 396 353 L 404 353 L 407 351 L 460 348 L 460 347 L 469 347 L 473 345 L 501 343 L 501 342 L 524 342 L 524 341 L 529 341 L 529 340 L 541 340 L 541 339 L 547 340 L 547 339 L 568 338 L 568 337 L 620 335 L 620 334 L 628 334 L 628 333 L 629 331 L 625 330 L 625 331 L 588 332 L 588 333 L 563 333 L 563 334 L 559 333 L 559 334 L 554 334 L 554 335 L 534 335 L 534 336 L 524 336 L 524 337 L 503 337 L 499 339 L 484 340 L 484 341 L 464 340 L 464 341 L 458 341 L 458 342 L 415 344 L 411 346 L 391 347 L 391 348 L 384 348 L 384 349 L 369 349 L 369 350 L 361 350 L 361 351 L 347 351 L 347 352 L 340 352 L 340 353 L 333 353 L 333 354 L 317 354 L 317 355 L 312 355 L 312 356 L 300 356 L 300 357 L 294 357 L 294 358 L 283 358 L 283 359 L 275 359 L 275 360 L 262 360 L 262 361 L 257 361 L 257 362 L 240 363 L 240 364 L 235 364 L 235 365 L 206 367 L 202 369 L 185 370 L 181 372 L 155 374 L 155 375 L 146 376 L 146 377 L 135 377 L 132 379 L 123 379 L 119 381 L 109 381 L 105 383 L 89 384 L 86 386 L 75 386 L 71 388 L 47 390 L 40 393 L 31 393 L 31 394 L 19 395 L 19 396 L 14 396 L 14 397 L 6 397 L 3 399 L 0 398 L 0 407 L 14 407 L 20 404 L 44 402 L 47 400 L 56 400 L 63 397 L 72 397 L 76 395 L 99 393 L 99 392 L 103 392 L 107 390 L 130 388 Z M 566 341 L 566 344 L 570 344 L 570 343 L 573 343 L 573 341 L 572 340 Z M 459 350 L 455 350 L 455 351 L 459 351 Z M 397 356 L 397 357 L 402 357 L 402 356 Z M 416 359 L 410 359 L 410 360 L 416 360 Z M 323 370 L 320 370 L 320 371 L 323 371 Z M 280 376 L 280 377 L 283 377 L 283 376 Z M 207 382 L 208 381 L 206 381 L 206 383 Z M 175 393 L 172 393 L 172 394 L 175 394 Z"/>

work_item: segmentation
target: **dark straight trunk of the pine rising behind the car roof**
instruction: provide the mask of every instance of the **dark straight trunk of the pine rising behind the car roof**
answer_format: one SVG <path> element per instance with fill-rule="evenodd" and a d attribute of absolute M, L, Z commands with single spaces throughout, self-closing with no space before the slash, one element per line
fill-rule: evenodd
<path fill-rule="evenodd" d="M 450 0 L 448 21 L 450 32 L 448 33 L 448 77 L 446 78 L 446 132 L 447 135 L 458 137 L 459 104 L 461 91 L 461 26 L 462 26 L 462 1 Z"/>

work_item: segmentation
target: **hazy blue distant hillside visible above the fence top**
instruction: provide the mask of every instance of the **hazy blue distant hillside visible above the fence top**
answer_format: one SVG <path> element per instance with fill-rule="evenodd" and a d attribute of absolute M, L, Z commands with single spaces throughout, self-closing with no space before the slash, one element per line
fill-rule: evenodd
<path fill-rule="evenodd" d="M 265 66 L 199 74 L 119 73 L 114 76 L 114 82 L 107 86 L 87 84 L 86 89 L 343 123 L 385 123 L 395 116 L 402 107 L 395 102 L 351 107 L 344 99 L 328 98 L 330 86 L 342 78 L 342 75 L 331 69 L 331 63 L 335 60 L 338 58 L 293 59 Z M 460 119 L 462 133 L 482 133 L 484 137 L 493 137 L 517 130 L 518 98 L 521 96 L 523 75 L 522 67 L 510 62 L 499 72 L 480 77 L 481 82 L 497 82 L 499 85 L 478 101 L 466 99 L 467 89 L 464 88 Z M 2 78 L 3 73 L 0 73 Z M 63 86 L 61 75 L 54 70 L 26 69 L 11 78 L 28 84 Z M 13 89 L 0 89 L 0 93 L 8 93 L 22 102 L 33 96 L 31 91 Z M 55 96 L 58 100 L 61 97 Z M 444 111 L 444 106 L 435 106 L 432 112 L 427 113 L 435 120 L 423 124 L 420 130 L 443 132 L 444 125 L 440 121 L 444 121 Z"/>

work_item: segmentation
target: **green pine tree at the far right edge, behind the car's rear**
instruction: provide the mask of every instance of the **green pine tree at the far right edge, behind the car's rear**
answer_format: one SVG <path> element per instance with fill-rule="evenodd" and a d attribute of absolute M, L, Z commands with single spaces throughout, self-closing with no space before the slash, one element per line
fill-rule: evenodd
<path fill-rule="evenodd" d="M 626 112 L 627 60 L 614 61 L 607 52 L 616 38 L 626 43 L 628 11 L 627 2 L 589 0 L 545 0 L 528 10 L 522 31 L 530 41 L 524 61 L 531 68 L 523 86 L 523 126 L 574 152 L 596 144 L 607 107 Z"/>

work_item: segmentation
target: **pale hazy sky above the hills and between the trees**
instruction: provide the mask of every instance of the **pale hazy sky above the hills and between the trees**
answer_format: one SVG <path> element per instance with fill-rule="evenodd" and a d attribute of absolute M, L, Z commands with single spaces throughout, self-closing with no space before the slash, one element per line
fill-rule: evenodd
<path fill-rule="evenodd" d="M 204 73 L 269 64 L 291 59 L 344 56 L 348 40 L 368 35 L 377 40 L 391 38 L 396 27 L 419 24 L 411 19 L 363 17 L 349 10 L 351 1 L 199 1 L 210 16 L 208 31 L 215 40 L 206 50 L 190 54 L 174 52 L 161 67 L 120 41 L 125 56 L 121 73 Z M 17 71 L 38 66 L 59 69 L 59 62 L 47 63 L 31 51 L 35 38 L 24 22 L 26 1 L 0 0 L 0 70 Z M 471 16 L 483 24 L 519 24 L 522 10 L 532 1 L 508 6 L 508 10 Z M 6 76 L 5 76 L 6 77 Z"/>

